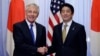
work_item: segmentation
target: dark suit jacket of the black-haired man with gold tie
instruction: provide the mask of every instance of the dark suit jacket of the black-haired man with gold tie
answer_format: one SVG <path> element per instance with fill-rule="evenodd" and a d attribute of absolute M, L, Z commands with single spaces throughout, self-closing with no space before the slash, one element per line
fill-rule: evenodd
<path fill-rule="evenodd" d="M 52 46 L 48 53 L 56 56 L 86 56 L 86 32 L 84 26 L 72 21 L 65 42 L 62 41 L 62 23 L 54 27 Z"/>

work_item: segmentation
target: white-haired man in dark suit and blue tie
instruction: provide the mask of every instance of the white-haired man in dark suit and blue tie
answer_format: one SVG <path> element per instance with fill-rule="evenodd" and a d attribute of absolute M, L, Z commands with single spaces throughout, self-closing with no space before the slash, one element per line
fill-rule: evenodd
<path fill-rule="evenodd" d="M 46 29 L 35 21 L 39 15 L 39 6 L 28 4 L 25 15 L 24 21 L 13 26 L 13 56 L 45 56 L 43 47 L 46 46 Z"/>

